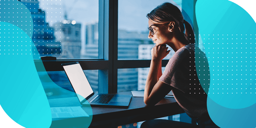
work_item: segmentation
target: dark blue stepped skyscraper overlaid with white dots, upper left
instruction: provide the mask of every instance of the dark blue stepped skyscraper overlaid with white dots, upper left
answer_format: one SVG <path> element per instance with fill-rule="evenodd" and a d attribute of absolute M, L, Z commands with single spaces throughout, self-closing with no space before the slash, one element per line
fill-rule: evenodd
<path fill-rule="evenodd" d="M 33 20 L 32 41 L 40 56 L 58 56 L 61 53 L 60 42 L 55 40 L 54 29 L 49 27 L 45 21 L 45 11 L 39 9 L 39 0 L 20 0 L 20 2 L 31 13 Z"/>

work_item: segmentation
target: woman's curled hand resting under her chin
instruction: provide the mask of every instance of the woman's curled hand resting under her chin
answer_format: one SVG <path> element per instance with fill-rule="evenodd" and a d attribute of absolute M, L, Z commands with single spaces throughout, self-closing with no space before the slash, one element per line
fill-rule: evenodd
<path fill-rule="evenodd" d="M 170 53 L 166 45 L 156 45 L 151 49 L 152 60 L 161 61 Z"/>

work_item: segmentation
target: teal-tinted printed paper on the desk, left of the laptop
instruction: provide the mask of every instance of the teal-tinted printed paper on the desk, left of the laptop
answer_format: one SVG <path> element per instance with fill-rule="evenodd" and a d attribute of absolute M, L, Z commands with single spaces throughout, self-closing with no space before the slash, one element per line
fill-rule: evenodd
<path fill-rule="evenodd" d="M 73 117 L 89 117 L 80 107 L 53 107 L 51 108 L 52 119 L 55 118 L 73 118 Z"/>

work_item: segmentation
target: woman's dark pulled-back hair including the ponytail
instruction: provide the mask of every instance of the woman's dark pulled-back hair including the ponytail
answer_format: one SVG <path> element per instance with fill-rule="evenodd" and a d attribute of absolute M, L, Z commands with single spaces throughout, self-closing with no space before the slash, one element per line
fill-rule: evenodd
<path fill-rule="evenodd" d="M 195 43 L 194 31 L 191 25 L 184 20 L 183 15 L 178 7 L 175 5 L 165 2 L 157 6 L 154 10 L 147 14 L 147 18 L 153 20 L 154 22 L 175 22 L 174 27 L 178 28 L 179 33 L 183 36 L 177 36 L 177 38 L 182 41 L 184 37 L 189 43 Z M 185 27 L 184 27 L 184 25 Z M 185 31 L 186 28 L 186 31 Z M 175 29 L 174 29 L 175 30 Z M 185 31 L 185 34 L 184 34 Z"/>

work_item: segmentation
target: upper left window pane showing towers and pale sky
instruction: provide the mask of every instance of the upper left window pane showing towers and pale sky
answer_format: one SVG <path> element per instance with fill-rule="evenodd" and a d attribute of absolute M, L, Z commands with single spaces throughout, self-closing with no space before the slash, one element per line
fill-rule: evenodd
<path fill-rule="evenodd" d="M 98 0 L 20 0 L 31 12 L 40 56 L 98 58 Z"/>

